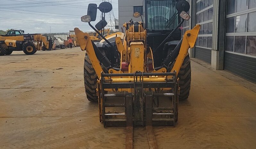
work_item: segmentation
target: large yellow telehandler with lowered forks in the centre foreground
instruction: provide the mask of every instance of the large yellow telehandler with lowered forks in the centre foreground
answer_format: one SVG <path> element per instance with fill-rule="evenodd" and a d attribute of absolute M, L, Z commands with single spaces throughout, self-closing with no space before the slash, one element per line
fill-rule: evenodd
<path fill-rule="evenodd" d="M 74 31 L 84 59 L 84 84 L 88 100 L 98 101 L 99 120 L 105 126 L 126 126 L 126 148 L 132 148 L 133 126 L 146 126 L 149 147 L 157 148 L 153 127 L 175 126 L 178 101 L 189 96 L 191 66 L 188 49 L 193 48 L 200 30 L 196 25 L 185 32 L 180 26 L 190 19 L 185 0 L 145 0 L 145 20 L 124 23 L 125 34 L 106 38 L 98 32 L 107 25 L 102 18 L 95 27 L 97 9 L 112 10 L 103 2 L 89 4 L 82 22 L 88 22 L 103 40 L 94 43 L 90 35 Z M 104 16 L 104 15 L 103 15 Z M 164 100 L 167 99 L 167 100 Z"/>

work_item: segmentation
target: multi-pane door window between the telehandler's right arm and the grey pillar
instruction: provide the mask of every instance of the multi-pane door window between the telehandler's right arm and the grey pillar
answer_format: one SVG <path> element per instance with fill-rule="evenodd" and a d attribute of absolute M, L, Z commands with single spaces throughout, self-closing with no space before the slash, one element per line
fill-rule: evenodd
<path fill-rule="evenodd" d="M 196 1 L 196 24 L 200 24 L 199 38 L 196 46 L 212 48 L 213 0 Z"/>

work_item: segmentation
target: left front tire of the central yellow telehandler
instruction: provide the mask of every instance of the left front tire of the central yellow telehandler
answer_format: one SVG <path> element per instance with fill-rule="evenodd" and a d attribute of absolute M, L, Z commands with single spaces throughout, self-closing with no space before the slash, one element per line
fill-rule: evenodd
<path fill-rule="evenodd" d="M 91 64 L 89 56 L 85 54 L 84 57 L 84 87 L 86 97 L 89 101 L 98 102 L 96 94 L 98 76 Z"/>

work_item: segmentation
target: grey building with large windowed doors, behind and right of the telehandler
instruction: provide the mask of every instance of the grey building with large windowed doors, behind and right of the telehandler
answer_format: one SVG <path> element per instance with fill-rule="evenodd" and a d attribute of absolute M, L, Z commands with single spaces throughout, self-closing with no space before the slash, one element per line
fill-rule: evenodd
<path fill-rule="evenodd" d="M 216 70 L 227 70 L 256 82 L 256 0 L 188 0 L 191 20 L 182 34 L 196 24 L 201 30 L 190 56 Z M 119 29 L 142 7 L 142 0 L 119 0 Z M 144 11 L 144 10 L 142 10 Z M 137 19 L 137 20 L 136 20 Z"/>

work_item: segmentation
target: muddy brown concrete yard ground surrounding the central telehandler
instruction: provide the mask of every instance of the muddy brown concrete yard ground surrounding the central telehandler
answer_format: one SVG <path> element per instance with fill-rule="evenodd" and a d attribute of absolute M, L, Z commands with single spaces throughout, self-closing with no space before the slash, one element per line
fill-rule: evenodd
<path fill-rule="evenodd" d="M 84 55 L 73 48 L 0 57 L 0 148 L 125 148 L 125 128 L 104 128 L 86 99 Z M 256 93 L 192 61 L 176 127 L 154 133 L 160 149 L 256 148 Z M 133 140 L 149 148 L 145 128 Z"/>

